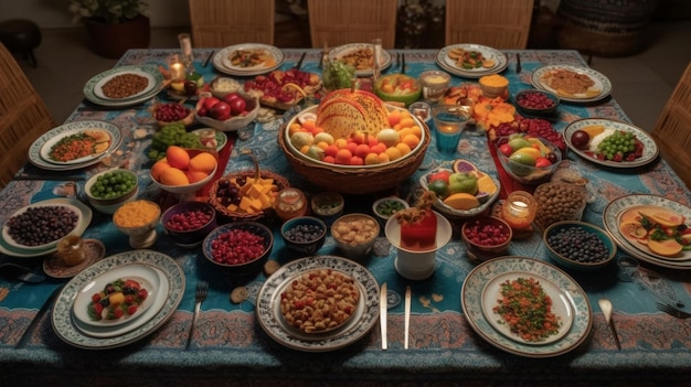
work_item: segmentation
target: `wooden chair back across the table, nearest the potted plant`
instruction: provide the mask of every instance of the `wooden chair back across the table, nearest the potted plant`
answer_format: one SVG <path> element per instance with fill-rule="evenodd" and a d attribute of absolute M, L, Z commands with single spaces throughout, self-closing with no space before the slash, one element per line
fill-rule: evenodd
<path fill-rule="evenodd" d="M 190 0 L 195 47 L 274 44 L 275 0 Z"/>

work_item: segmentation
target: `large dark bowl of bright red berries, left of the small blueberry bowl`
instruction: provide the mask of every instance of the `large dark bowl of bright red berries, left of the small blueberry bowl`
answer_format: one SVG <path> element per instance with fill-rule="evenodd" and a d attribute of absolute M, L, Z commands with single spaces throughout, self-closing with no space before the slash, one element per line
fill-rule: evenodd
<path fill-rule="evenodd" d="M 273 248 L 274 233 L 258 222 L 232 222 L 219 226 L 202 244 L 204 257 L 233 277 L 262 271 Z"/>

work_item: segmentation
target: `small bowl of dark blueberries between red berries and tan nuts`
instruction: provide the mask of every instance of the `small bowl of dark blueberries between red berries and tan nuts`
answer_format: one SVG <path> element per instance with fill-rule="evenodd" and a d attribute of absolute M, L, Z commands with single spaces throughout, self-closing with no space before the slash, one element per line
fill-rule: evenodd
<path fill-rule="evenodd" d="M 327 225 L 312 216 L 298 216 L 280 226 L 280 236 L 288 248 L 305 256 L 311 256 L 323 246 L 327 239 Z"/>

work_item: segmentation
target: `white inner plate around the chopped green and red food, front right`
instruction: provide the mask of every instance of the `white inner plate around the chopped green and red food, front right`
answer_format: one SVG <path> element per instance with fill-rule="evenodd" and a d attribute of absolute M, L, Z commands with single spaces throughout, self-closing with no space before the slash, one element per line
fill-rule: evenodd
<path fill-rule="evenodd" d="M 538 280 L 545 294 L 552 299 L 552 312 L 562 324 L 556 334 L 545 337 L 543 341 L 539 342 L 527 341 L 511 332 L 509 325 L 501 321 L 501 316 L 493 312 L 493 308 L 498 305 L 498 300 L 502 298 L 501 284 L 506 281 L 510 282 L 519 278 L 532 278 Z M 568 297 L 564 294 L 557 286 L 552 283 L 546 278 L 542 278 L 531 272 L 520 271 L 504 272 L 492 278 L 487 282 L 487 284 L 485 284 L 485 289 L 482 289 L 482 313 L 485 313 L 485 319 L 487 319 L 487 321 L 489 321 L 489 323 L 501 334 L 527 345 L 544 345 L 562 340 L 562 337 L 564 337 L 571 330 L 574 318 Z"/>

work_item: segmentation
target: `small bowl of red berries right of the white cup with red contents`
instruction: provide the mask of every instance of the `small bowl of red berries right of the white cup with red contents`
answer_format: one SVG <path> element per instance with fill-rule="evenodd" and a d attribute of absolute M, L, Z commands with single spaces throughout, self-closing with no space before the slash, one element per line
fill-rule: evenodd
<path fill-rule="evenodd" d="M 485 216 L 464 223 L 460 235 L 468 257 L 474 261 L 485 261 L 507 254 L 513 232 L 503 219 Z"/>

